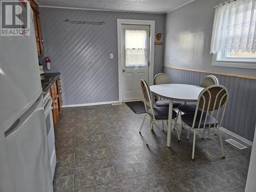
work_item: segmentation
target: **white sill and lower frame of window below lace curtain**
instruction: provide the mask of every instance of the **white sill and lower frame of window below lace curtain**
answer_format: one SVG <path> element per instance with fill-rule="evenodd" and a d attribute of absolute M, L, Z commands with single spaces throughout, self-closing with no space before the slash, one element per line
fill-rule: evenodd
<path fill-rule="evenodd" d="M 226 57 L 226 53 L 212 55 L 212 66 L 256 69 L 256 58 L 249 57 Z"/>

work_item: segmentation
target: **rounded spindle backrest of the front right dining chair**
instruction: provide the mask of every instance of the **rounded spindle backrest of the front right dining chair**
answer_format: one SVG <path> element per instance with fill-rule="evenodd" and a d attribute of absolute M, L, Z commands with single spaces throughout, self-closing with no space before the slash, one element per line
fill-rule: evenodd
<path fill-rule="evenodd" d="M 217 119 L 221 114 L 220 115 L 221 120 L 219 123 L 219 125 L 221 126 L 223 117 L 227 108 L 228 96 L 229 96 L 228 90 L 223 86 L 216 85 L 216 86 L 210 86 L 208 88 L 205 88 L 198 97 L 197 108 L 196 108 L 194 121 L 193 121 L 193 128 L 199 128 L 199 127 L 194 127 L 198 115 L 200 115 L 199 125 L 201 125 L 201 122 L 204 122 L 203 128 L 205 127 L 206 120 L 207 120 L 207 115 L 204 115 L 205 112 L 207 114 L 209 112 L 216 112 L 216 116 L 215 116 L 216 121 L 214 126 L 216 126 Z M 224 107 L 222 108 L 222 106 Z M 198 112 L 199 108 L 202 109 L 201 113 Z M 210 118 L 212 118 L 212 116 Z M 210 121 L 212 121 L 212 119 L 210 119 Z"/>

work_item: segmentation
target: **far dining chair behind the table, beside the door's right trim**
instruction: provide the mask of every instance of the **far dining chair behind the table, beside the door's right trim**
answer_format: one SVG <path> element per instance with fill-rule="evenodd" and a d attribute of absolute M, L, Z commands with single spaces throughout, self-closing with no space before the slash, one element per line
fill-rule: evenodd
<path fill-rule="evenodd" d="M 153 79 L 154 85 L 155 84 L 168 84 L 170 83 L 169 76 L 165 73 L 158 73 L 155 75 Z M 178 106 L 181 105 L 178 101 L 173 101 L 173 109 L 178 108 Z M 157 97 L 156 106 L 168 106 L 169 107 L 169 101 L 163 100 L 161 97 Z"/>

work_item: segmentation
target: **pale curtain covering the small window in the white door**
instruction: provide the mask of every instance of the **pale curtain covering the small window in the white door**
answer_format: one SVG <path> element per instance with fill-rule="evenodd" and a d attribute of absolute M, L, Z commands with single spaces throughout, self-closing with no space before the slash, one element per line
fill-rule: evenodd
<path fill-rule="evenodd" d="M 125 66 L 146 66 L 146 31 L 125 30 Z"/>

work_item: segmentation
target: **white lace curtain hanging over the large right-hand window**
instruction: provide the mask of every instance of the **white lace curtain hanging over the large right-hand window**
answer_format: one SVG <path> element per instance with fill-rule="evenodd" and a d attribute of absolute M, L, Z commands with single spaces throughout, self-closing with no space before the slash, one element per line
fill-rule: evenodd
<path fill-rule="evenodd" d="M 231 0 L 216 7 L 211 53 L 256 49 L 256 0 Z"/>

